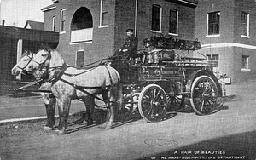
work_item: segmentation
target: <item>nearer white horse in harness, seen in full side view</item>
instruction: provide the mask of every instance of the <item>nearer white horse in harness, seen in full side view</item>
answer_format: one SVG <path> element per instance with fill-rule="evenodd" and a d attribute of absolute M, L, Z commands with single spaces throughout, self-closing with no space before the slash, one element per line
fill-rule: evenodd
<path fill-rule="evenodd" d="M 113 105 L 116 105 L 116 100 L 119 100 L 121 89 L 119 73 L 113 67 L 97 66 L 88 70 L 77 69 L 67 66 L 56 50 L 42 49 L 25 70 L 32 72 L 36 78 L 42 78 L 45 71 L 49 75 L 50 89 L 59 108 L 58 134 L 66 132 L 71 100 L 83 100 L 88 119 L 92 121 L 91 114 L 94 111 L 96 94 L 102 94 L 107 106 L 107 119 L 103 127 L 113 128 Z"/>

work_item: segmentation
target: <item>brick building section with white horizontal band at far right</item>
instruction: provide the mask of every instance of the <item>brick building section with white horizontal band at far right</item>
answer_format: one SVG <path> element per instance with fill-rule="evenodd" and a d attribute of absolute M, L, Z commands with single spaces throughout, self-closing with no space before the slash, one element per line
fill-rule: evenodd
<path fill-rule="evenodd" d="M 254 0 L 199 0 L 195 9 L 200 52 L 232 83 L 256 78 L 255 8 Z"/>

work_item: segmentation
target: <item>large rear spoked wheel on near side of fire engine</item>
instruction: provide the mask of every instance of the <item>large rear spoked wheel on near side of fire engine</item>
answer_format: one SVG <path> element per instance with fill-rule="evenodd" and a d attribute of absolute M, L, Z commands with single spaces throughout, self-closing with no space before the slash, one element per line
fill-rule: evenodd
<path fill-rule="evenodd" d="M 218 87 L 211 77 L 195 78 L 191 87 L 190 103 L 199 115 L 208 115 L 219 111 Z"/>

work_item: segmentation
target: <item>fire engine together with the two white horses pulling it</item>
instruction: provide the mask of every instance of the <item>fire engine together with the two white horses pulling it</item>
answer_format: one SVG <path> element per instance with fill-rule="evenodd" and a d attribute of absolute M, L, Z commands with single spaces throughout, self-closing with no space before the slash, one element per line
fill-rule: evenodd
<path fill-rule="evenodd" d="M 84 101 L 90 123 L 93 122 L 90 113 L 95 107 L 94 100 L 104 101 L 108 110 L 103 124 L 106 129 L 113 128 L 113 106 L 117 104 L 128 109 L 130 114 L 138 109 L 149 123 L 165 118 L 167 108 L 177 111 L 188 100 L 186 98 L 199 115 L 219 111 L 222 89 L 217 77 L 206 58 L 189 56 L 190 52 L 201 48 L 197 40 L 154 36 L 145 39 L 144 46 L 145 49 L 135 55 L 119 58 L 116 54 L 89 68 L 67 66 L 55 49 L 41 49 L 37 54 L 23 56 L 12 73 L 17 76 L 30 72 L 38 79 L 20 89 L 39 83 L 38 91 L 49 93 L 42 94 L 48 117 L 45 129 L 54 126 L 56 103 L 60 116 L 59 134 L 65 134 L 67 129 L 73 99 Z M 187 51 L 187 54 L 177 54 L 178 50 Z M 97 94 L 102 94 L 102 99 Z"/>

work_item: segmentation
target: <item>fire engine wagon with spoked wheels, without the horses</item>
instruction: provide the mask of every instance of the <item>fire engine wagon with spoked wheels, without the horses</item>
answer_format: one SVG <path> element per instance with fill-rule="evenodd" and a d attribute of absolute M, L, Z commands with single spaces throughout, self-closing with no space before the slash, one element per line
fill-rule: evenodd
<path fill-rule="evenodd" d="M 144 39 L 144 46 L 133 56 L 111 60 L 123 83 L 121 104 L 130 113 L 138 108 L 147 122 L 157 122 L 166 116 L 167 108 L 180 109 L 185 98 L 199 115 L 219 110 L 222 91 L 212 67 L 202 54 L 198 58 L 189 56 L 201 49 L 197 39 L 154 36 Z M 177 50 L 187 53 L 177 54 Z"/>

